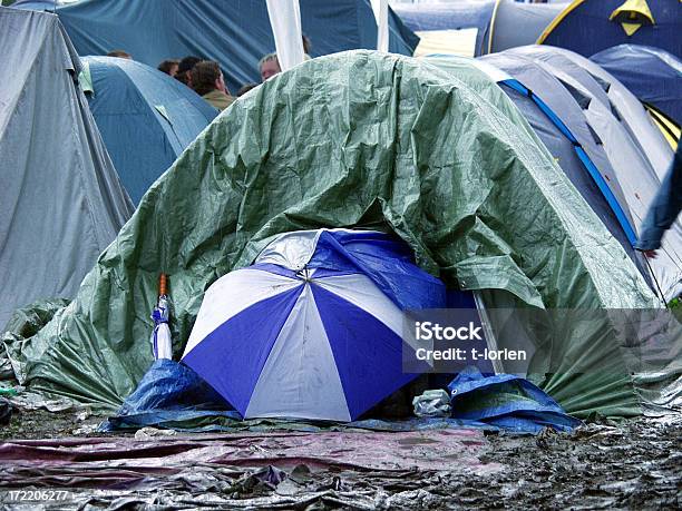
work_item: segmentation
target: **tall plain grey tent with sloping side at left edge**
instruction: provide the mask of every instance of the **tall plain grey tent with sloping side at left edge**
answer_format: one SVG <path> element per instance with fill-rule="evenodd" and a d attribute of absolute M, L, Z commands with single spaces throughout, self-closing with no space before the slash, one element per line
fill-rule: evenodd
<path fill-rule="evenodd" d="M 70 298 L 133 213 L 53 14 L 0 8 L 0 328 L 41 297 Z M 11 72 L 10 72 L 11 71 Z"/>

